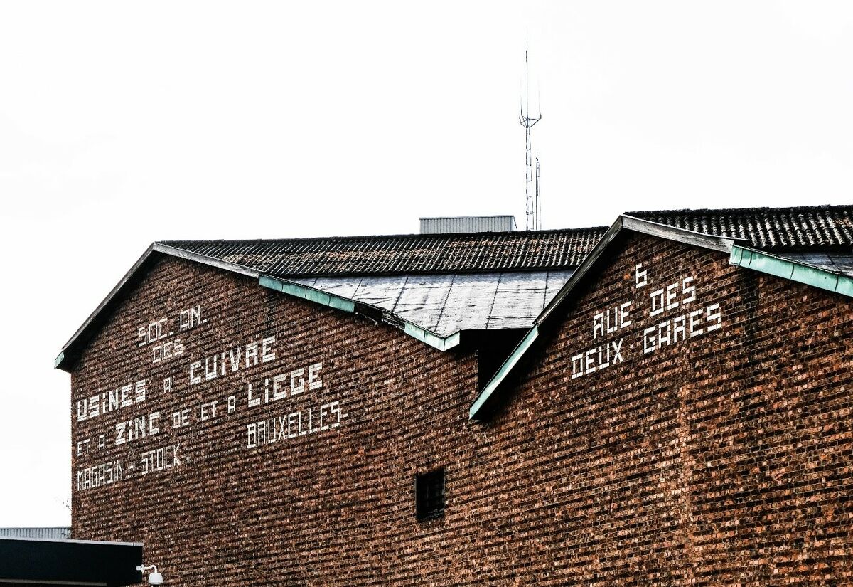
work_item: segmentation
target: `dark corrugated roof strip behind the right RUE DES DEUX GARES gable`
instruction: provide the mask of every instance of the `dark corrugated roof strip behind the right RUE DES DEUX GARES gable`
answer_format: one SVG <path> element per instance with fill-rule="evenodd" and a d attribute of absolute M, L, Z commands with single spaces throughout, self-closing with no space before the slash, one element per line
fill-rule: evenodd
<path fill-rule="evenodd" d="M 853 246 L 853 206 L 734 208 L 627 212 L 659 224 L 745 239 L 751 247 L 773 250 Z"/>

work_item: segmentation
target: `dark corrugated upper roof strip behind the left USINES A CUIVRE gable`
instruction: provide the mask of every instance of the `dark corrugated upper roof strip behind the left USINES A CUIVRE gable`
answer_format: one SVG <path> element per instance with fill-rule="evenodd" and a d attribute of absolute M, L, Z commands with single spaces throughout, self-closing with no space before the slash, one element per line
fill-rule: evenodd
<path fill-rule="evenodd" d="M 163 244 L 280 277 L 477 273 L 576 267 L 605 230 Z"/>

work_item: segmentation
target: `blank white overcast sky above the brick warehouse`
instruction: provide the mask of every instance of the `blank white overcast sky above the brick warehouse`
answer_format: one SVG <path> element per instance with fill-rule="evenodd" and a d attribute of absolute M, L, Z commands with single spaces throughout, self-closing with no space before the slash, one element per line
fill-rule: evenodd
<path fill-rule="evenodd" d="M 853 3 L 0 0 L 0 526 L 67 524 L 61 346 L 151 241 L 850 203 Z"/>

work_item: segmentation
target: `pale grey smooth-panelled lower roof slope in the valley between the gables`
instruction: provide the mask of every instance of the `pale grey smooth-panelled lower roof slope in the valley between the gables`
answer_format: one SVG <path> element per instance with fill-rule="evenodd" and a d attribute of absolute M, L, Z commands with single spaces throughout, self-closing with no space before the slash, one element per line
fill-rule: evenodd
<path fill-rule="evenodd" d="M 351 276 L 292 281 L 393 312 L 439 336 L 529 328 L 571 270 L 478 275 Z"/>

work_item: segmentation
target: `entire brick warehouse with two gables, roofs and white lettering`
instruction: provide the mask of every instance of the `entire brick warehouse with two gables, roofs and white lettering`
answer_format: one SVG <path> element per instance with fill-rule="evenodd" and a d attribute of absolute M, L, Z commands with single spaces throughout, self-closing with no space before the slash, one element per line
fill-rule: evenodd
<path fill-rule="evenodd" d="M 63 347 L 168 585 L 853 584 L 853 206 L 154 243 Z"/>

